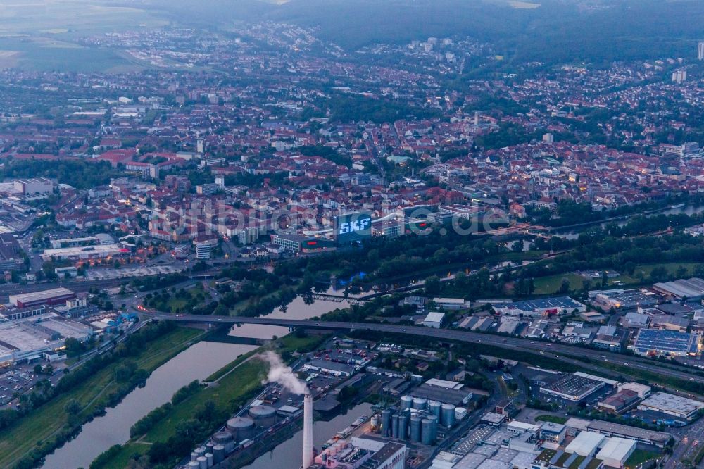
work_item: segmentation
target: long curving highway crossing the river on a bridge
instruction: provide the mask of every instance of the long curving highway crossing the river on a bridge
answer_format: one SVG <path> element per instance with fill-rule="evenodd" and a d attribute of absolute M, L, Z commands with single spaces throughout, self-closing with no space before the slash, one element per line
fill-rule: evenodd
<path fill-rule="evenodd" d="M 472 342 L 474 344 L 486 344 L 498 346 L 503 349 L 520 351 L 531 351 L 537 354 L 546 355 L 550 358 L 557 358 L 565 363 L 575 365 L 575 370 L 595 370 L 610 375 L 623 375 L 624 377 L 632 377 L 627 373 L 617 373 L 604 366 L 604 363 L 612 363 L 622 365 L 627 368 L 656 373 L 663 377 L 677 378 L 679 380 L 689 380 L 704 384 L 704 377 L 693 375 L 684 367 L 670 368 L 663 363 L 651 361 L 648 358 L 640 358 L 637 356 L 627 356 L 623 354 L 614 354 L 608 351 L 599 351 L 586 349 L 584 347 L 555 344 L 551 342 L 532 341 L 529 339 L 520 339 L 518 337 L 501 337 L 491 334 L 480 334 L 477 332 L 467 332 L 448 329 L 433 329 L 430 327 L 421 326 L 406 326 L 406 325 L 389 325 L 377 323 L 341 323 L 341 322 L 326 322 L 326 321 L 310 321 L 310 320 L 287 320 L 274 318 L 243 318 L 228 317 L 228 316 L 199 316 L 199 315 L 144 315 L 145 318 L 154 318 L 158 320 L 175 320 L 184 323 L 208 323 L 208 324 L 259 324 L 259 325 L 275 325 L 282 327 L 303 327 L 309 329 L 338 329 L 338 330 L 372 330 L 375 332 L 389 332 L 394 334 L 411 334 L 422 335 L 425 337 L 435 337 L 436 339 L 454 340 L 458 342 Z M 573 357 L 586 357 L 591 360 L 591 363 L 585 363 L 577 359 L 572 359 L 562 354 L 568 354 Z M 517 356 L 519 358 L 520 356 Z M 601 363 L 601 365 L 600 365 Z M 677 392 L 671 389 L 672 392 Z M 677 392 L 691 396 L 693 394 Z"/>

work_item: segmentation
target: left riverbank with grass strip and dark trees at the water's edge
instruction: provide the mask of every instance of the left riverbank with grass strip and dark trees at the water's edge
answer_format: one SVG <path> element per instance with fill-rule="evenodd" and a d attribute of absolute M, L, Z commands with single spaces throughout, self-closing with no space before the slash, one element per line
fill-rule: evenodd
<path fill-rule="evenodd" d="M 58 437 L 65 435 L 67 427 L 75 427 L 100 415 L 108 404 L 115 404 L 123 383 L 116 379 L 116 371 L 128 363 L 151 373 L 170 358 L 186 349 L 203 335 L 203 331 L 177 327 L 152 341 L 134 355 L 116 358 L 105 368 L 97 370 L 82 383 L 56 396 L 48 403 L 20 418 L 0 435 L 0 467 L 29 468 L 34 461 L 54 449 Z M 68 412 L 69 403 L 77 401 L 80 408 L 75 414 Z M 79 429 L 80 431 L 80 429 Z M 63 442 L 62 442 L 63 444 Z"/>

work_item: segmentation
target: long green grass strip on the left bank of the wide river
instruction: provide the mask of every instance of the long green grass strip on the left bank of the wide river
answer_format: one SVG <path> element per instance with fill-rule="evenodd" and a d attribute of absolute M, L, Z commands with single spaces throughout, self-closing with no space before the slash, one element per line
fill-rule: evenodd
<path fill-rule="evenodd" d="M 125 361 L 135 361 L 139 368 L 151 372 L 194 341 L 203 332 L 194 329 L 177 328 L 149 344 L 149 349 L 137 357 L 121 358 L 107 368 L 95 373 L 89 380 L 69 392 L 52 399 L 29 415 L 18 420 L 0 435 L 0 467 L 10 467 L 27 454 L 37 442 L 48 439 L 68 422 L 64 406 L 71 400 L 79 401 L 83 408 L 80 416 L 92 414 L 104 405 L 103 399 L 118 384 L 113 380 L 115 368 Z"/>

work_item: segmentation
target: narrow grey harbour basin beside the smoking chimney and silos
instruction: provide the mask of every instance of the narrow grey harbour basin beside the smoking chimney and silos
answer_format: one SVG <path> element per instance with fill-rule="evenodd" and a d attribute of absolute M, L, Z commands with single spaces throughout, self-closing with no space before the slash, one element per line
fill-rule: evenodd
<path fill-rule="evenodd" d="M 313 446 L 320 451 L 320 446 L 323 443 L 334 437 L 339 430 L 344 430 L 345 427 L 353 423 L 361 415 L 372 415 L 372 405 L 360 404 L 351 408 L 344 415 L 337 415 L 329 422 L 319 421 L 313 423 Z M 303 446 L 303 430 L 296 432 L 293 437 L 279 444 L 274 451 L 269 451 L 259 456 L 253 463 L 244 466 L 244 468 L 284 469 L 298 467 L 300 465 L 298 460 L 301 459 L 301 446 Z"/>

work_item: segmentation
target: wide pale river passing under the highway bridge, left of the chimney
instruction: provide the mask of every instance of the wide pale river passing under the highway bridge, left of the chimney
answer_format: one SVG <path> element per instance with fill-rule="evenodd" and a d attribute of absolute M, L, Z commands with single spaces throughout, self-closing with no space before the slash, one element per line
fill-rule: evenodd
<path fill-rule="evenodd" d="M 347 306 L 349 306 L 348 301 L 340 303 L 315 301 L 307 305 L 301 297 L 298 297 L 291 301 L 285 313 L 277 308 L 269 317 L 308 319 Z M 231 335 L 271 339 L 275 335 L 282 337 L 288 333 L 287 327 L 243 325 L 234 327 Z M 127 442 L 130 439 L 130 427 L 149 411 L 169 401 L 177 389 L 193 380 L 203 380 L 227 363 L 234 361 L 237 356 L 253 349 L 256 349 L 256 346 L 215 342 L 194 344 L 154 370 L 146 381 L 145 387 L 135 389 L 118 406 L 108 408 L 106 415 L 97 417 L 84 425 L 76 439 L 54 451 L 54 454 L 46 456 L 42 467 L 46 469 L 88 468 L 103 451 L 115 444 Z M 342 425 L 342 427 L 345 426 Z"/>

